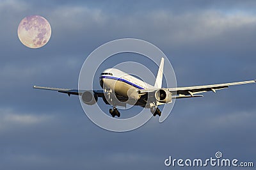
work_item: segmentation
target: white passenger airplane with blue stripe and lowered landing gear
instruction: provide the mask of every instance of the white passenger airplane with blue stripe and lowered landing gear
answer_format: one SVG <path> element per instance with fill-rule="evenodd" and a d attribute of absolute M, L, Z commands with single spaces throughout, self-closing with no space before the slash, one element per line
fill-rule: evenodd
<path fill-rule="evenodd" d="M 198 94 L 207 91 L 216 93 L 216 90 L 225 89 L 229 86 L 256 82 L 256 80 L 253 80 L 204 86 L 162 88 L 163 68 L 164 58 L 161 58 L 154 86 L 129 75 L 129 73 L 122 72 L 116 68 L 108 68 L 104 70 L 99 77 L 101 90 L 49 88 L 42 86 L 33 86 L 33 88 L 67 93 L 68 96 L 80 95 L 84 104 L 87 105 L 95 104 L 98 101 L 98 98 L 101 97 L 105 104 L 113 106 L 113 109 L 109 109 L 109 114 L 115 118 L 115 116 L 120 117 L 120 112 L 116 108 L 117 106 L 125 106 L 126 104 L 139 105 L 150 109 L 153 116 L 161 116 L 161 111 L 158 106 L 170 104 L 174 98 L 204 97 L 203 95 Z"/>

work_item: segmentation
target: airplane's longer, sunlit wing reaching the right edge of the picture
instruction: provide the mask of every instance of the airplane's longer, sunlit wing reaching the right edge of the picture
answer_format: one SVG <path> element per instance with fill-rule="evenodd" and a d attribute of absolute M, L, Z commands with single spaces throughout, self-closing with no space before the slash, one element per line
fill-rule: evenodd
<path fill-rule="evenodd" d="M 229 86 L 239 85 L 239 84 L 249 84 L 254 83 L 254 81 L 241 81 L 241 82 L 230 82 L 223 84 L 212 84 L 212 85 L 204 85 L 204 86 L 190 86 L 190 87 L 182 87 L 182 88 L 168 88 L 170 92 L 176 95 L 173 98 L 188 98 L 188 97 L 203 97 L 202 95 L 195 95 L 198 93 L 205 93 L 207 91 L 213 91 L 216 93 L 218 89 L 225 89 Z M 140 89 L 139 93 L 150 93 L 156 91 L 157 89 Z"/>

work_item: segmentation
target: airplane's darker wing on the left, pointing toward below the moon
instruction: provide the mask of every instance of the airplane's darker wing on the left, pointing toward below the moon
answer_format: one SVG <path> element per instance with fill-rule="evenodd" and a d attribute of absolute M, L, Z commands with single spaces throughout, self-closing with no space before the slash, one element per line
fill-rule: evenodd
<path fill-rule="evenodd" d="M 82 95 L 85 90 L 78 90 L 78 89 L 64 89 L 64 88 L 49 88 L 49 87 L 42 87 L 42 86 L 33 86 L 35 89 L 47 89 L 52 91 L 58 91 L 60 93 L 67 93 L 68 96 L 70 95 Z M 98 96 L 104 96 L 103 90 L 93 90 L 93 92 Z"/>

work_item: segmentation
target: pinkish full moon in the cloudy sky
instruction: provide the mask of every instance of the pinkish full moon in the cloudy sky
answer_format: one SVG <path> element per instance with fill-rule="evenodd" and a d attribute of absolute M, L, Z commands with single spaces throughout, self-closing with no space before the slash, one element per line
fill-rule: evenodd
<path fill-rule="evenodd" d="M 38 15 L 25 17 L 20 21 L 18 27 L 20 42 L 32 49 L 43 47 L 49 42 L 51 33 L 49 22 Z"/>

